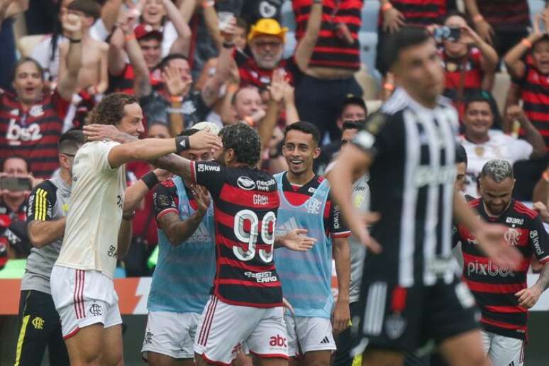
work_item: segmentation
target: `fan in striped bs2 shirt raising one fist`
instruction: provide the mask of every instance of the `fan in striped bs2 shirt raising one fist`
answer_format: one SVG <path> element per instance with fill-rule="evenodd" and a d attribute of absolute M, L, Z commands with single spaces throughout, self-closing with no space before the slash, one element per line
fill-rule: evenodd
<path fill-rule="evenodd" d="M 43 94 L 42 67 L 36 60 L 23 57 L 14 69 L 15 93 L 0 90 L 0 159 L 21 155 L 30 162 L 34 176 L 40 178 L 49 178 L 59 167 L 57 143 L 82 65 L 80 18 L 64 15 L 62 25 L 69 38 L 69 51 L 67 73 L 57 89 Z"/>

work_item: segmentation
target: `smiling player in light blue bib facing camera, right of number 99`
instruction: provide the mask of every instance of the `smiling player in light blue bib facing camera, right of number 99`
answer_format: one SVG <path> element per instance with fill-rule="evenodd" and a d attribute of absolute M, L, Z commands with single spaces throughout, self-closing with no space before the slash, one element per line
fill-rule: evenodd
<path fill-rule="evenodd" d="M 292 123 L 284 130 L 282 153 L 288 171 L 275 174 L 280 199 L 277 233 L 306 228 L 316 245 L 304 253 L 280 249 L 275 263 L 284 298 L 294 308 L 294 314 L 284 314 L 290 363 L 304 357 L 307 365 L 328 366 L 331 352 L 336 350 L 332 332 L 340 333 L 350 320 L 350 231 L 330 199 L 328 181 L 313 172 L 313 160 L 320 155 L 319 140 L 318 129 L 308 122 Z M 335 304 L 332 252 L 338 275 Z"/>

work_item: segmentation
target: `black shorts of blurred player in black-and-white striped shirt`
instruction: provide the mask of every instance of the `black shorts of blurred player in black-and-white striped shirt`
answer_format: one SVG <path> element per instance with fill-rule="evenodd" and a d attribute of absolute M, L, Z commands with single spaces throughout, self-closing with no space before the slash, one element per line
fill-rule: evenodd
<path fill-rule="evenodd" d="M 362 311 L 360 319 L 353 320 L 353 355 L 366 348 L 413 353 L 428 340 L 438 344 L 479 329 L 475 298 L 457 277 L 451 284 L 406 289 L 363 279 L 359 302 Z"/>

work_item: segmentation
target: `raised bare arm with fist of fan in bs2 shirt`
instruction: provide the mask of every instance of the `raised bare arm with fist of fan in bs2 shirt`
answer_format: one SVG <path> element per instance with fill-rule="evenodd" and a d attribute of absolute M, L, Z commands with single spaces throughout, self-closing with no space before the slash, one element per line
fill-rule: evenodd
<path fill-rule="evenodd" d="M 78 16 L 65 11 L 62 15 L 62 25 L 65 35 L 69 38 L 69 47 L 67 57 L 60 60 L 57 91 L 62 99 L 72 101 L 72 94 L 77 89 L 78 72 L 82 67 L 82 23 Z"/>

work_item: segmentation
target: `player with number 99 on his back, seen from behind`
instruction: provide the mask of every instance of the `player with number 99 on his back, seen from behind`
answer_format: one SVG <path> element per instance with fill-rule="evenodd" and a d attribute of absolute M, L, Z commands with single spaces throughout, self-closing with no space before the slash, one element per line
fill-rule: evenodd
<path fill-rule="evenodd" d="M 277 183 L 271 174 L 257 170 L 257 132 L 237 123 L 223 128 L 221 138 L 218 162 L 171 157 L 170 169 L 186 182 L 206 187 L 214 201 L 216 275 L 194 340 L 196 364 L 228 365 L 246 342 L 250 352 L 265 358 L 264 365 L 287 365 L 274 248 L 308 250 L 314 239 L 299 229 L 275 238 Z"/>

